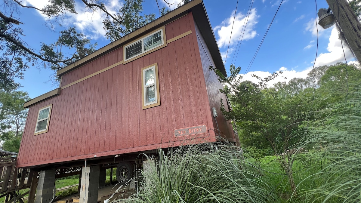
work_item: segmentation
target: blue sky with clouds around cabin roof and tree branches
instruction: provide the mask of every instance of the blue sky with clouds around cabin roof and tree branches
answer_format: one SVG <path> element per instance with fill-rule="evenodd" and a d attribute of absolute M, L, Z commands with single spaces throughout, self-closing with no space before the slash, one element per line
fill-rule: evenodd
<path fill-rule="evenodd" d="M 47 28 L 46 18 L 36 10 L 19 9 L 18 17 L 24 23 L 22 28 L 26 35 L 23 39 L 32 48 L 38 50 L 41 42 L 52 43 L 57 39 L 58 31 L 64 27 L 76 25 L 79 31 L 83 31 L 92 39 L 92 42 L 99 44 L 98 48 L 108 44 L 109 40 L 104 37 L 105 31 L 101 28 L 103 27 L 102 15 L 86 12 L 81 1 L 75 1 L 79 14 L 71 14 L 58 19 L 63 27 L 55 25 L 55 30 Z M 167 0 L 169 3 L 178 3 L 179 1 Z M 108 5 L 108 11 L 113 13 L 122 6 L 121 0 L 104 0 L 103 2 Z M 242 67 L 241 74 L 245 73 L 280 2 L 281 0 L 254 0 L 252 9 L 248 12 L 251 0 L 239 0 L 237 10 L 237 0 L 204 0 L 223 60 L 226 60 L 227 70 L 230 64 L 234 63 L 236 66 Z M 325 0 L 316 0 L 316 2 L 310 0 L 283 1 L 245 78 L 257 82 L 255 78 L 250 77 L 251 74 L 266 77 L 279 70 L 284 72 L 283 76 L 287 79 L 278 78 L 274 82 L 287 81 L 294 77 L 306 77 L 306 74 L 312 69 L 316 57 L 316 13 L 320 8 L 328 8 Z M 43 7 L 47 0 L 23 0 L 23 3 Z M 158 14 L 157 9 L 155 0 L 145 0 L 145 13 Z M 243 25 L 246 19 L 248 22 L 244 30 Z M 230 36 L 231 30 L 232 35 Z M 239 46 L 240 36 L 241 38 L 243 36 L 243 40 Z M 344 51 L 347 62 L 355 61 L 347 48 L 344 48 Z M 338 61 L 344 62 L 345 60 L 337 30 L 334 26 L 327 30 L 318 27 L 318 53 L 315 67 L 335 64 Z M 34 98 L 57 88 L 51 82 L 47 82 L 53 74 L 53 71 L 42 67 L 31 67 L 25 72 L 25 79 L 17 80 L 17 82 L 23 86 L 21 90 L 29 92 L 30 97 Z"/>

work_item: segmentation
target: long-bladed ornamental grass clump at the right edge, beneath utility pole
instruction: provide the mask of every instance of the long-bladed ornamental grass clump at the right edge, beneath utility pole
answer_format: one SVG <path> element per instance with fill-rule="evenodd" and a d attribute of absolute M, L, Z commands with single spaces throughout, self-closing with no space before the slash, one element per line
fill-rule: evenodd
<path fill-rule="evenodd" d="M 361 95 L 327 110 L 325 119 L 310 124 L 301 147 L 309 148 L 301 173 L 309 174 L 297 186 L 293 201 L 361 202 Z M 304 183 L 307 182 L 307 187 Z M 302 189 L 301 189 L 302 188 Z"/>

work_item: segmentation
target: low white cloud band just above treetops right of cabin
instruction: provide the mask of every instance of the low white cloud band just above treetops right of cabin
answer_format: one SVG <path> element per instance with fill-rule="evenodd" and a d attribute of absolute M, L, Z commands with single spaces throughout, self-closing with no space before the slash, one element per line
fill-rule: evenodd
<path fill-rule="evenodd" d="M 297 72 L 296 70 L 288 70 L 286 67 L 282 66 L 279 70 L 275 71 L 275 72 L 282 71 L 282 74 L 280 74 L 277 78 L 269 81 L 267 83 L 267 85 L 272 86 L 277 82 L 288 82 L 293 78 L 306 78 L 307 73 L 310 72 L 310 70 L 312 70 L 312 67 L 307 68 L 306 70 Z M 249 80 L 256 84 L 258 82 L 260 82 L 257 78 L 252 77 L 252 74 L 257 75 L 257 76 L 261 77 L 262 79 L 271 75 L 270 72 L 264 72 L 264 71 L 252 71 L 252 72 L 248 72 L 246 75 L 244 75 L 244 74 L 240 74 L 240 75 L 242 75 L 244 77 L 243 81 Z"/>

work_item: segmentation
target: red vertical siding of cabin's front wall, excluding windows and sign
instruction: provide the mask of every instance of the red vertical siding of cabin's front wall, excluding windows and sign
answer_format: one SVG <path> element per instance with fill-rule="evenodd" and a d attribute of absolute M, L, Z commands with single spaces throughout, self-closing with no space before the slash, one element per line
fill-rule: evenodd
<path fill-rule="evenodd" d="M 213 128 L 209 104 L 213 100 L 208 99 L 199 58 L 204 53 L 200 54 L 192 16 L 166 25 L 166 39 L 189 30 L 192 34 L 166 47 L 63 88 L 60 95 L 31 106 L 18 164 L 26 167 L 178 146 L 197 136 L 176 138 L 175 129 Z M 118 48 L 65 74 L 61 86 L 121 61 L 122 51 Z M 141 69 L 155 63 L 161 105 L 142 109 Z M 47 104 L 53 104 L 49 131 L 34 136 L 38 109 Z M 213 132 L 199 139 L 208 136 L 214 141 Z"/>

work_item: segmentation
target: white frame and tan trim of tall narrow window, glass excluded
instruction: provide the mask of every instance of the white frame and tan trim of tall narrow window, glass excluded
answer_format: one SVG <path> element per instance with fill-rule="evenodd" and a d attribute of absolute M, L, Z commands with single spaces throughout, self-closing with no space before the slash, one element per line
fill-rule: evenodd
<path fill-rule="evenodd" d="M 154 84 L 145 85 L 145 72 L 147 70 L 153 69 L 154 73 Z M 147 87 L 153 86 L 155 89 L 155 100 L 153 102 L 147 103 Z M 160 95 L 159 95 L 159 80 L 158 80 L 158 64 L 152 64 L 145 68 L 142 68 L 142 98 L 143 98 L 143 109 L 151 108 L 160 105 Z"/>

